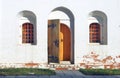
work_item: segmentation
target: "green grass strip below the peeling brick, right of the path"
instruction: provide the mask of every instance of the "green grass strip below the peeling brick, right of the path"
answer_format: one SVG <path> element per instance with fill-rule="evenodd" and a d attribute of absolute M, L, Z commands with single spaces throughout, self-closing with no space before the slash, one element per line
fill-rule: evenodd
<path fill-rule="evenodd" d="M 120 69 L 79 69 L 85 75 L 120 75 Z"/>

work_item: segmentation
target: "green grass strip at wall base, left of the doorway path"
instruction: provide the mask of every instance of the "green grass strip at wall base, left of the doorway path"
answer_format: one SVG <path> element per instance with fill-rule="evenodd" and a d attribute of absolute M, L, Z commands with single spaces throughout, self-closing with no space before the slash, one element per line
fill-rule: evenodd
<path fill-rule="evenodd" d="M 4 68 L 0 69 L 0 75 L 55 75 L 55 71 L 39 68 Z"/>

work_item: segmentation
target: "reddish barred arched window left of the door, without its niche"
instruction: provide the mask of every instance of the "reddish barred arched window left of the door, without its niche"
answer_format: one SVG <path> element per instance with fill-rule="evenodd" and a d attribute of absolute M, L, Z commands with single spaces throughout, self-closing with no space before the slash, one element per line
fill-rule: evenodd
<path fill-rule="evenodd" d="M 22 43 L 34 43 L 34 28 L 31 23 L 22 25 Z"/>

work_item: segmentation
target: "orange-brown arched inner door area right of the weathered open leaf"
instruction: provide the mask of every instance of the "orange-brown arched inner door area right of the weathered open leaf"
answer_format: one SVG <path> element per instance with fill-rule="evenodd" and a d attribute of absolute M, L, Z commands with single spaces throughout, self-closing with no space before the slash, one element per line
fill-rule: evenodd
<path fill-rule="evenodd" d="M 70 61 L 71 52 L 71 33 L 70 29 L 65 24 L 60 24 L 60 61 Z"/>

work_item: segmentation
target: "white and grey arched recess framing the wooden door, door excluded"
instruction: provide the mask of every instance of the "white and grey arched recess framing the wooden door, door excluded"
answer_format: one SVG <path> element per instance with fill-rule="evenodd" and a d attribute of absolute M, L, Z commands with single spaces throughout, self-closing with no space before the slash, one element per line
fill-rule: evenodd
<path fill-rule="evenodd" d="M 52 15 L 54 14 L 54 15 Z M 59 16 L 60 15 L 60 16 Z M 51 18 L 52 17 L 52 18 Z M 60 25 L 65 24 L 67 27 L 69 27 L 70 32 L 71 32 L 71 46 L 70 46 L 70 62 L 74 63 L 74 15 L 73 13 L 65 8 L 65 7 L 57 7 L 51 11 L 49 14 L 48 20 L 59 20 L 59 31 L 60 31 Z M 50 27 L 50 24 L 49 24 Z M 48 31 L 49 32 L 49 31 Z M 49 41 L 49 40 L 48 40 Z M 48 46 L 49 48 L 49 46 Z M 49 52 L 48 52 L 48 57 L 49 57 Z M 59 58 L 59 56 L 58 56 Z"/>

